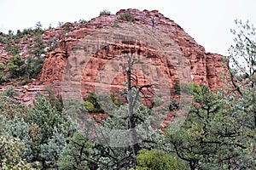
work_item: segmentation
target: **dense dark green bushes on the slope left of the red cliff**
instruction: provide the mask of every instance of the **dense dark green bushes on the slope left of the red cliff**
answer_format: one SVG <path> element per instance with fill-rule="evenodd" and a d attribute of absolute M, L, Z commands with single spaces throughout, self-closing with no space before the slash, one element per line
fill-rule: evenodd
<path fill-rule="evenodd" d="M 0 43 L 6 44 L 5 51 L 12 55 L 8 60 L 8 65 L 0 65 L 0 83 L 9 82 L 12 78 L 23 77 L 23 81 L 20 83 L 26 84 L 31 82 L 31 78 L 38 77 L 44 61 L 44 55 L 42 54 L 45 53 L 45 45 L 42 39 L 43 33 L 42 25 L 38 22 L 34 29 L 18 30 L 16 34 L 14 31 L 9 31 L 8 34 L 0 34 Z M 30 57 L 22 59 L 19 42 L 28 40 L 30 43 L 26 48 Z"/>

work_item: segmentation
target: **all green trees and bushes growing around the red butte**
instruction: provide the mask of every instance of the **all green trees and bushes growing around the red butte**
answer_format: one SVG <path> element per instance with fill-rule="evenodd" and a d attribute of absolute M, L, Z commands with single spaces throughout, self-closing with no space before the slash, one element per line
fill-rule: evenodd
<path fill-rule="evenodd" d="M 108 15 L 108 11 L 100 14 Z M 130 14 L 121 20 L 134 21 Z M 82 22 L 82 21 L 81 21 Z M 161 111 L 180 110 L 179 99 L 164 105 L 157 96 L 150 106 L 143 105 L 143 88 L 132 74 L 132 56 L 128 56 L 126 83 L 122 93 L 100 96 L 93 92 L 83 102 L 71 99 L 73 107 L 63 107 L 55 95 L 38 93 L 33 105 L 24 105 L 15 98 L 9 86 L 0 94 L 0 168 L 1 169 L 254 169 L 256 167 L 256 42 L 255 28 L 249 22 L 236 20 L 235 37 L 230 55 L 224 57 L 229 72 L 223 76 L 230 83 L 214 92 L 195 83 L 173 82 L 175 95 L 193 96 L 184 122 L 165 129 L 154 127 L 151 118 Z M 70 26 L 65 25 L 66 32 Z M 7 64 L 0 63 L 0 83 L 20 79 L 26 84 L 38 77 L 44 63 L 44 30 L 40 23 L 34 29 L 1 34 L 0 42 L 11 54 Z M 34 35 L 29 57 L 20 57 L 16 42 Z M 240 59 L 243 59 L 241 64 Z M 229 64 L 228 64 L 229 62 Z M 168 90 L 168 89 L 166 89 Z M 119 96 L 119 97 L 116 97 Z M 103 98 L 107 103 L 101 103 Z M 125 99 L 125 100 L 122 100 Z M 112 105 L 113 104 L 113 105 Z M 154 111 L 153 108 L 158 110 Z M 111 112 L 108 107 L 112 107 Z M 96 139 L 84 134 L 83 125 L 70 115 L 104 114 L 97 120 Z M 124 116 L 125 115 L 125 116 Z M 130 144 L 121 146 L 123 134 L 131 134 Z M 115 141 L 103 140 L 106 135 Z M 140 137 L 143 136 L 143 139 Z M 104 143 L 104 144 L 101 144 Z"/>

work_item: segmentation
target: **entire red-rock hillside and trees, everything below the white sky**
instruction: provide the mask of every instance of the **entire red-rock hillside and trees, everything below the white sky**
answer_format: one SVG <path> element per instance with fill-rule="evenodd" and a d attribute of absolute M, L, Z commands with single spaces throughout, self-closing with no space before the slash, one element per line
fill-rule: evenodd
<path fill-rule="evenodd" d="M 225 57 L 156 10 L 0 33 L 0 169 L 255 169 L 256 29 L 236 25 Z"/>

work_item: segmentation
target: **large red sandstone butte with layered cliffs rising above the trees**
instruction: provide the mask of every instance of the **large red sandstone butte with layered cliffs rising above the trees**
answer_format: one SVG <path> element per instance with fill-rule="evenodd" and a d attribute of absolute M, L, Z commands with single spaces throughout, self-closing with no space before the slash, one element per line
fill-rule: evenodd
<path fill-rule="evenodd" d="M 135 20 L 122 20 L 125 13 Z M 173 89 L 173 83 L 179 81 L 205 84 L 212 89 L 224 86 L 223 56 L 207 53 L 181 26 L 157 10 L 121 9 L 86 23 L 65 23 L 48 29 L 42 37 L 45 43 L 57 43 L 46 52 L 38 79 L 16 87 L 20 91 L 18 99 L 26 104 L 31 104 L 34 94 L 44 92 L 46 87 L 70 97 L 84 97 L 102 88 L 124 88 L 125 75 L 120 65 L 127 63 L 125 56 L 131 54 L 144 59 L 135 71 L 141 85 L 163 81 Z M 18 44 L 24 49 L 23 58 L 27 56 L 27 44 Z M 9 54 L 0 53 L 2 62 L 8 58 Z"/>

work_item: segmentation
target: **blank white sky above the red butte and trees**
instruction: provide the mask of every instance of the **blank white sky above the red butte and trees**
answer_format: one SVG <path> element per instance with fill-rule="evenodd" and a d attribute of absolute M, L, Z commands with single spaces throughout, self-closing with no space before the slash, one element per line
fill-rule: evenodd
<path fill-rule="evenodd" d="M 207 52 L 228 54 L 233 43 L 230 28 L 235 19 L 250 20 L 256 26 L 255 0 L 1 0 L 0 31 L 21 31 L 41 21 L 44 27 L 61 22 L 90 20 L 107 9 L 157 9 L 174 20 Z"/>

